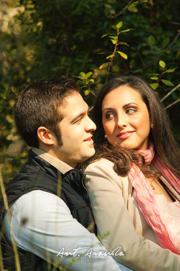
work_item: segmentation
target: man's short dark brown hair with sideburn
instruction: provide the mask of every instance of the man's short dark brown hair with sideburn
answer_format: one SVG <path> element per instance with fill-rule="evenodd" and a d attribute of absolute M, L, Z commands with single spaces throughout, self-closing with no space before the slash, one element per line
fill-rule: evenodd
<path fill-rule="evenodd" d="M 18 132 L 30 147 L 39 147 L 37 129 L 40 126 L 51 129 L 62 145 L 61 108 L 66 104 L 65 98 L 74 92 L 79 93 L 79 84 L 67 76 L 35 81 L 21 92 L 14 106 L 14 117 Z"/>

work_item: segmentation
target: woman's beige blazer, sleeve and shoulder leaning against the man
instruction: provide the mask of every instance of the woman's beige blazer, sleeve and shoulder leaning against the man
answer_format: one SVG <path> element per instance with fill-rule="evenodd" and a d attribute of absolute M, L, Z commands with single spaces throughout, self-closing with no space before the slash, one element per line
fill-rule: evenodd
<path fill-rule="evenodd" d="M 99 238 L 110 252 L 122 247 L 124 256 L 114 255 L 116 260 L 137 271 L 179 271 L 180 256 L 157 244 L 128 177 L 118 176 L 106 159 L 90 164 L 85 173 Z"/>

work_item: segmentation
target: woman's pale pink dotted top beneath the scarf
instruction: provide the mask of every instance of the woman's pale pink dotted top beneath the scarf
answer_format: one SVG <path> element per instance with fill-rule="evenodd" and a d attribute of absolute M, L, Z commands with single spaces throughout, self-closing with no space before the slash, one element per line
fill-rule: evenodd
<path fill-rule="evenodd" d="M 161 218 L 180 241 L 180 202 L 168 202 L 164 195 L 155 195 Z"/>

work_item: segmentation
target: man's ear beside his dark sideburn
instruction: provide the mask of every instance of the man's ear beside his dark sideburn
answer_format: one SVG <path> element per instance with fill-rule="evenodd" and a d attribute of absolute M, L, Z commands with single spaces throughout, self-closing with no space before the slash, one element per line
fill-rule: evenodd
<path fill-rule="evenodd" d="M 52 130 L 47 129 L 44 126 L 41 126 L 37 130 L 37 136 L 40 140 L 40 142 L 52 145 L 54 144 L 54 132 Z"/>

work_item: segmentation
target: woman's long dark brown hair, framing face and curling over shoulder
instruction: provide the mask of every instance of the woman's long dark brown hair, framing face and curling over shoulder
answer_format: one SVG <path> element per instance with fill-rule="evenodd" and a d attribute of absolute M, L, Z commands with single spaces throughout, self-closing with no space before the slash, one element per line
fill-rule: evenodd
<path fill-rule="evenodd" d="M 149 140 L 154 143 L 155 153 L 176 176 L 180 177 L 179 148 L 172 132 L 169 117 L 151 86 L 137 76 L 114 77 L 106 82 L 98 92 L 93 107 L 93 121 L 97 126 L 93 135 L 95 145 L 99 151 L 97 158 L 104 157 L 114 162 L 114 170 L 121 176 L 128 174 L 132 163 L 138 164 L 146 176 L 151 176 L 154 173 L 145 167 L 144 158 L 137 151 L 124 149 L 118 145 L 111 146 L 104 139 L 102 102 L 109 92 L 124 85 L 135 89 L 141 94 L 142 100 L 149 111 L 151 123 L 153 123 L 153 129 L 150 129 Z"/>

